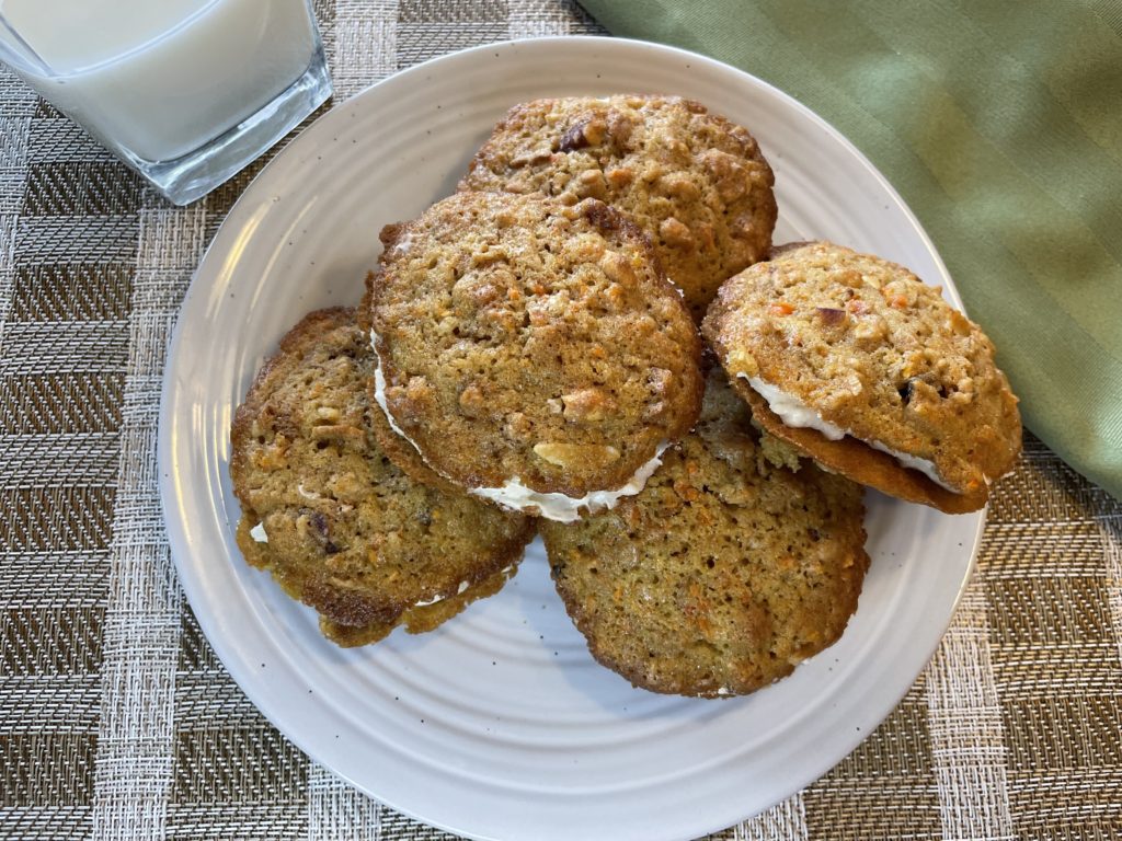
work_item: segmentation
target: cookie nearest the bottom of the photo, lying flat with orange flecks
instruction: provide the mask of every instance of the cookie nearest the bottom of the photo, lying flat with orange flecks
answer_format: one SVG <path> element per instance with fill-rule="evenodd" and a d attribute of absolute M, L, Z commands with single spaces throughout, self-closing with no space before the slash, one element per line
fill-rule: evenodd
<path fill-rule="evenodd" d="M 719 368 L 697 428 L 638 496 L 542 523 L 550 566 L 601 664 L 636 686 L 739 695 L 833 645 L 868 567 L 859 486 L 767 462 Z"/>

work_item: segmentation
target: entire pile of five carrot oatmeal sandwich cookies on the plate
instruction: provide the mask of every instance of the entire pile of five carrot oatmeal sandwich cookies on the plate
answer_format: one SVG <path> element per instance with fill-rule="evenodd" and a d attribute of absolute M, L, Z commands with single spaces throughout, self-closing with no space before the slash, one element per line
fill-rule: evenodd
<path fill-rule="evenodd" d="M 381 232 L 357 309 L 305 317 L 251 386 L 247 560 L 359 645 L 497 591 L 536 530 L 592 655 L 655 692 L 745 694 L 831 645 L 863 486 L 981 508 L 1020 420 L 937 289 L 772 248 L 772 184 L 693 102 L 514 108 Z"/>

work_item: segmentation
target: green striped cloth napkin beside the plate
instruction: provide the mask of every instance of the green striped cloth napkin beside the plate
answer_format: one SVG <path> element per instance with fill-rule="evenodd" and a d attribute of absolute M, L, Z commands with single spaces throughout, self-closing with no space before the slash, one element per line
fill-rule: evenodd
<path fill-rule="evenodd" d="M 1122 498 L 1122 4 L 581 4 L 846 135 L 935 240 L 1026 425 Z"/>

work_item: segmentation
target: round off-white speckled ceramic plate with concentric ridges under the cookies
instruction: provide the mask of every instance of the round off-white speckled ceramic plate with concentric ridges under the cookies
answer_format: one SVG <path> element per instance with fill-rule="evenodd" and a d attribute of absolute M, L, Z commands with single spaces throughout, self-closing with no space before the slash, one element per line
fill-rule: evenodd
<path fill-rule="evenodd" d="M 884 178 L 758 80 L 668 47 L 498 44 L 337 105 L 246 191 L 183 305 L 160 414 L 162 492 L 184 590 L 230 674 L 314 759 L 422 821 L 480 839 L 689 839 L 812 782 L 893 709 L 935 650 L 982 516 L 868 496 L 872 569 L 843 639 L 729 701 L 632 688 L 594 663 L 541 544 L 433 634 L 342 650 L 233 542 L 231 414 L 302 315 L 356 303 L 381 225 L 450 193 L 493 123 L 535 96 L 665 92 L 747 126 L 775 169 L 776 241 L 829 238 L 954 287 Z"/>

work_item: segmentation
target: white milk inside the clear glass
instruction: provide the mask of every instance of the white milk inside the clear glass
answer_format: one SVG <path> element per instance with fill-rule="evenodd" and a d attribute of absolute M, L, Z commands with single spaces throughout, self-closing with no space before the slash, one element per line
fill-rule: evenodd
<path fill-rule="evenodd" d="M 20 75 L 147 161 L 180 158 L 257 112 L 315 48 L 305 0 L 2 0 L 0 11 L 47 65 Z"/>

